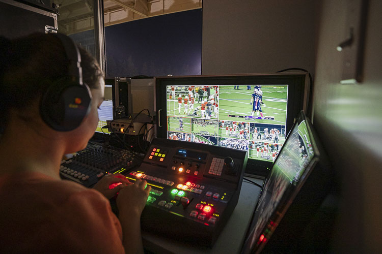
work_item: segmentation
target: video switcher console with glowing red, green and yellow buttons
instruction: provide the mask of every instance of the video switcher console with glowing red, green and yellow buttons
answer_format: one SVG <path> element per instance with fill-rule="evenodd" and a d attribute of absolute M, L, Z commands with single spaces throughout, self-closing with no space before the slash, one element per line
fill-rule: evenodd
<path fill-rule="evenodd" d="M 126 175 L 152 187 L 142 230 L 212 247 L 237 204 L 246 164 L 246 151 L 154 139 L 141 166 Z"/>

